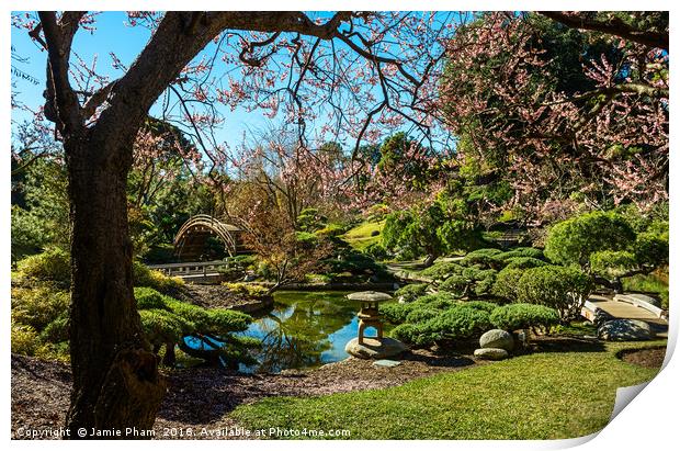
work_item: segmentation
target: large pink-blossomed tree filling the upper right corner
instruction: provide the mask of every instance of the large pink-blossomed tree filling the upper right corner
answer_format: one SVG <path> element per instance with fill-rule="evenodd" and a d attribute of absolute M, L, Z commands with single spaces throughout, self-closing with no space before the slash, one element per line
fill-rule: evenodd
<path fill-rule="evenodd" d="M 592 14 L 545 14 L 614 34 L 575 35 L 562 26 L 557 33 L 566 37 L 555 37 L 555 23 L 503 12 L 460 29 L 440 87 L 446 124 L 464 138 L 460 155 L 490 161 L 515 190 L 513 204 L 534 217 L 575 195 L 591 207 L 610 199 L 641 207 L 667 199 L 664 31 L 635 32 L 622 20 Z M 631 14 L 631 22 L 644 14 Z M 667 47 L 667 21 L 665 33 Z M 577 59 L 567 60 L 568 54 Z M 580 75 L 569 75 L 575 70 Z"/>

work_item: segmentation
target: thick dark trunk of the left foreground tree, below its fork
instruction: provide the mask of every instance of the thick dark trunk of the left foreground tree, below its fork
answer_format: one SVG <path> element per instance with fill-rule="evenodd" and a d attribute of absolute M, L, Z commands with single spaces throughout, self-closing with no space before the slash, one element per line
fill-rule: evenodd
<path fill-rule="evenodd" d="M 133 295 L 125 188 L 134 136 L 83 128 L 64 143 L 73 226 L 67 415 L 73 438 L 150 429 L 166 392 Z"/>

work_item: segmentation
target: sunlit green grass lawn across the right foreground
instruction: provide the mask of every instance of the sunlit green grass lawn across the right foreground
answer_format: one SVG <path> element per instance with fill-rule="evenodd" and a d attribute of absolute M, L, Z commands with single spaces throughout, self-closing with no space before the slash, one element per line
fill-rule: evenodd
<path fill-rule="evenodd" d="M 349 429 L 353 439 L 574 438 L 607 425 L 616 387 L 657 372 L 615 352 L 659 345 L 534 353 L 385 390 L 267 398 L 231 415 L 250 429 Z"/>

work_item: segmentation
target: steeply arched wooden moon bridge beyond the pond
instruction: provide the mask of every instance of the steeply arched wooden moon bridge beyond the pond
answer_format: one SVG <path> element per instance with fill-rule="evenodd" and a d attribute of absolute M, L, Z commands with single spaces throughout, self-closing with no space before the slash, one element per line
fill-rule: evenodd
<path fill-rule="evenodd" d="M 174 237 L 174 255 L 179 260 L 203 260 L 209 237 L 219 239 L 225 251 L 235 256 L 241 250 L 241 229 L 233 224 L 227 224 L 211 215 L 196 215 L 186 221 Z"/>

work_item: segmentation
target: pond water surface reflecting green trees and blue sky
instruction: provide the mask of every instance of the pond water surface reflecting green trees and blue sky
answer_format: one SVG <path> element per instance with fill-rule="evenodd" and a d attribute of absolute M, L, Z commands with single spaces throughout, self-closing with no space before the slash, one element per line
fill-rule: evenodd
<path fill-rule="evenodd" d="M 345 292 L 274 293 L 274 307 L 243 334 L 262 340 L 259 364 L 241 371 L 280 372 L 319 367 L 348 357 L 344 345 L 356 337 L 360 303 Z M 372 331 L 370 330 L 369 334 Z"/>

